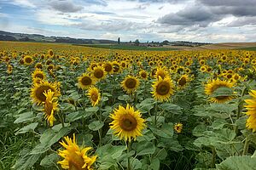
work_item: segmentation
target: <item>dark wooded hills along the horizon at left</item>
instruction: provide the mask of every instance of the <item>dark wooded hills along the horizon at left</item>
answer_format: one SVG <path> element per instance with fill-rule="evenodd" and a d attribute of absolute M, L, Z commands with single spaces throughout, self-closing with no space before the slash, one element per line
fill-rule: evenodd
<path fill-rule="evenodd" d="M 0 41 L 17 41 L 17 42 L 61 42 L 61 43 L 74 43 L 74 44 L 102 44 L 117 43 L 113 40 L 104 39 L 84 39 L 84 38 L 71 38 L 71 37 L 46 37 L 40 34 L 24 34 L 13 33 L 8 31 L 0 31 Z"/>

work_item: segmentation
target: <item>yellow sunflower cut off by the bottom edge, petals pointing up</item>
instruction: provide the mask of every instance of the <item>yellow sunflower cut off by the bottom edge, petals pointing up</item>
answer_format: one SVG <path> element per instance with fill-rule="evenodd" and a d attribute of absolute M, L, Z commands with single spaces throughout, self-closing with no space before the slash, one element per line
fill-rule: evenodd
<path fill-rule="evenodd" d="M 77 170 L 93 170 L 92 165 L 96 161 L 97 156 L 88 156 L 88 151 L 91 147 L 82 147 L 76 143 L 75 134 L 73 134 L 73 140 L 68 137 L 64 137 L 66 140 L 60 142 L 60 144 L 66 150 L 59 150 L 58 155 L 63 157 L 64 160 L 58 161 L 63 169 L 77 169 Z"/>

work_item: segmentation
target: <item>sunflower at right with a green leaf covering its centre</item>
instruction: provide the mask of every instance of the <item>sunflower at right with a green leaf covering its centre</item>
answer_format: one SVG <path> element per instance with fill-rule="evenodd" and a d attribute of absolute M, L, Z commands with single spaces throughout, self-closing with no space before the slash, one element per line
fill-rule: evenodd
<path fill-rule="evenodd" d="M 233 83 L 225 80 L 212 79 L 205 85 L 205 93 L 210 96 L 210 101 L 224 103 L 233 99 Z M 224 90 L 224 92 L 222 92 Z M 217 94 L 218 93 L 218 94 Z M 224 94 L 222 94 L 224 93 Z"/>

